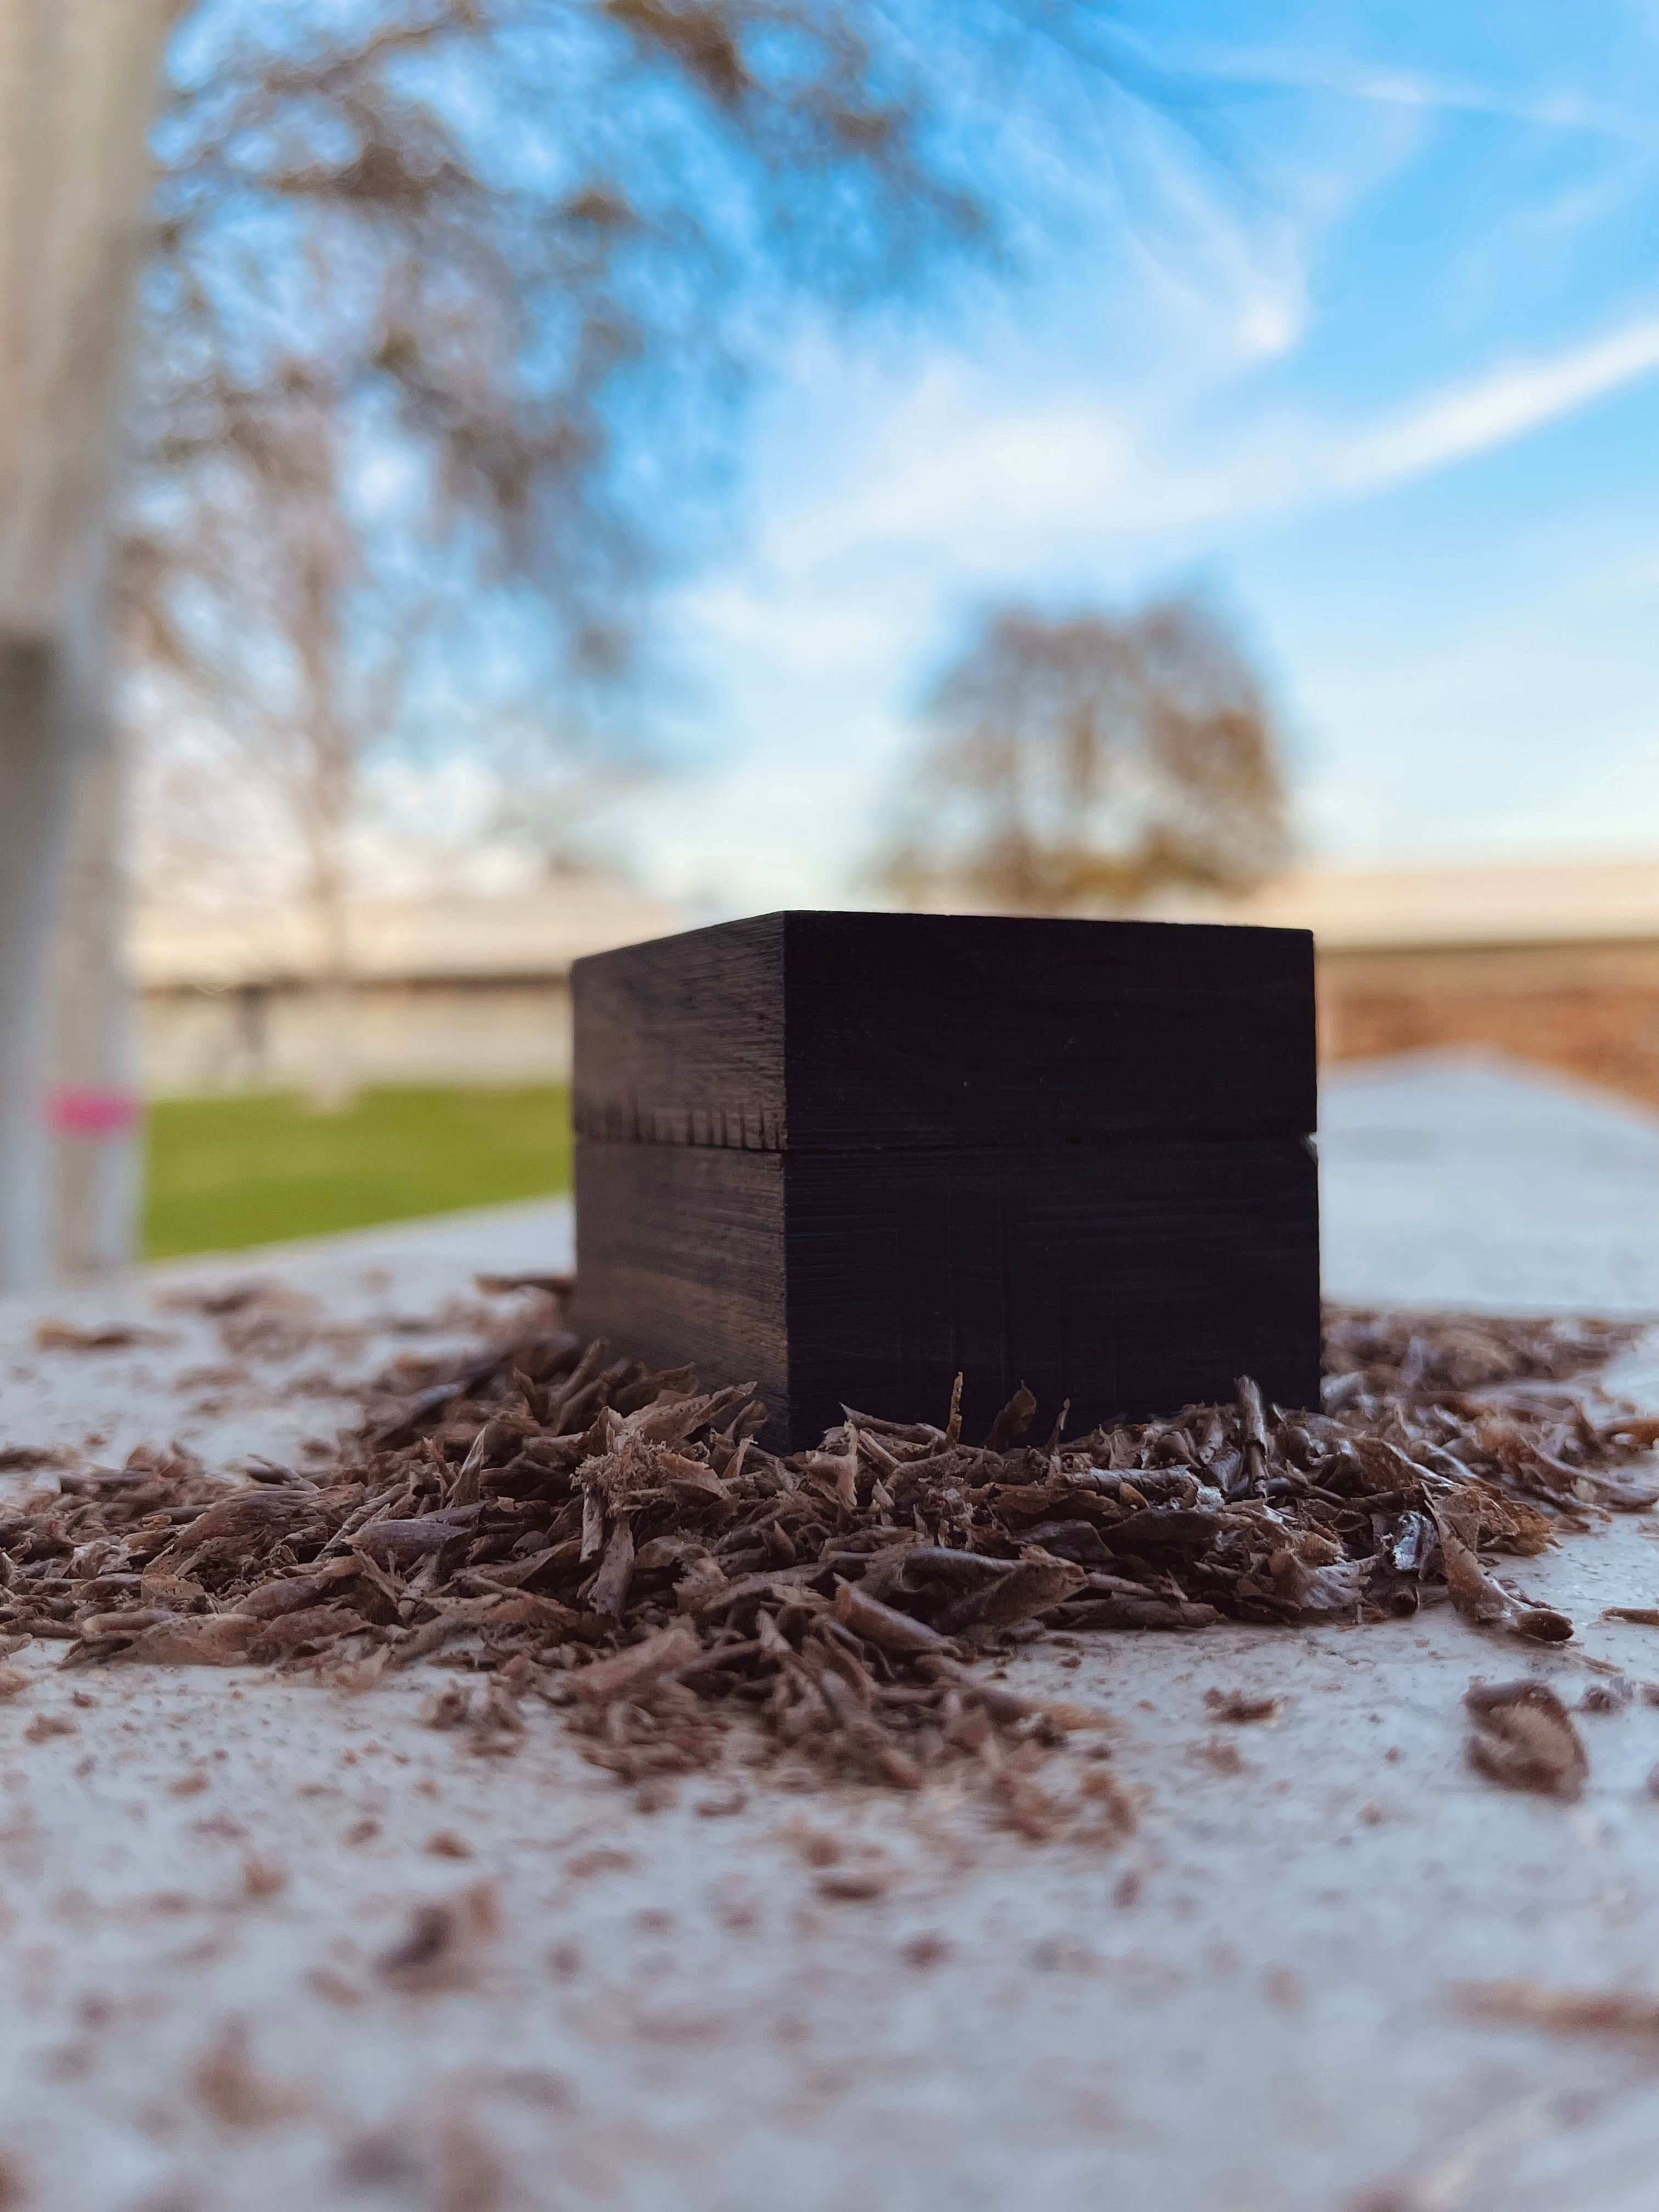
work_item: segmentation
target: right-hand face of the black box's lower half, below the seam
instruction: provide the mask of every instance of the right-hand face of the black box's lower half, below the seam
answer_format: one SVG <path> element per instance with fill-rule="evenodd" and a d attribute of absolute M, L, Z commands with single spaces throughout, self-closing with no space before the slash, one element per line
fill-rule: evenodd
<path fill-rule="evenodd" d="M 1318 1172 L 1294 1137 L 792 1155 L 790 1429 L 841 1405 L 969 1436 L 1230 1398 L 1318 1405 Z"/>

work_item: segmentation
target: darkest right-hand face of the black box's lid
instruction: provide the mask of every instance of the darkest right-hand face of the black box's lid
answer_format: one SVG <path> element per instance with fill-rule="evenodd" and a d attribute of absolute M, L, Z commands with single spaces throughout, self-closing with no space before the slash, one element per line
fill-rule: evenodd
<path fill-rule="evenodd" d="M 1307 931 L 785 920 L 792 1150 L 1314 1128 Z"/>

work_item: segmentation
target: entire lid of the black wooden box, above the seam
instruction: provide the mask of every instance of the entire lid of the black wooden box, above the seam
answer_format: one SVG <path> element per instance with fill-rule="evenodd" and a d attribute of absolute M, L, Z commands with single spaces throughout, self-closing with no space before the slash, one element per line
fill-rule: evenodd
<path fill-rule="evenodd" d="M 582 1135 L 737 1148 L 1314 1128 L 1301 929 L 768 914 L 577 960 Z"/>

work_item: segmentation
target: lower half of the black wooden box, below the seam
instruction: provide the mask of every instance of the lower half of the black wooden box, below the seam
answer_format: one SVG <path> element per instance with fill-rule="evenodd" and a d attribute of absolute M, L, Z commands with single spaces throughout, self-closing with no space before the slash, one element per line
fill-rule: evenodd
<path fill-rule="evenodd" d="M 577 1325 L 703 1385 L 774 1449 L 856 1405 L 969 1433 L 1228 1398 L 1318 1405 L 1318 1179 L 1296 1139 L 776 1155 L 577 1141 Z"/>

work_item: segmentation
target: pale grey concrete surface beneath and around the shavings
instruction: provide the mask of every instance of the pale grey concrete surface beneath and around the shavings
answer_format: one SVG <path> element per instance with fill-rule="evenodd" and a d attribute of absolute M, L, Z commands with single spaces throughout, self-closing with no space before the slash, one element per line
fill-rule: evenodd
<path fill-rule="evenodd" d="M 1597 1303 L 1646 1281 L 1641 1130 L 1619 1150 L 1586 1124 L 1568 1161 L 1548 1128 L 1526 1135 L 1548 1115 L 1513 1082 L 1352 1082 L 1325 1139 L 1334 1287 Z M 1509 1183 L 1489 1137 L 1458 1130 L 1458 1095 L 1515 1133 Z M 1626 1194 L 1599 1259 L 1582 1223 L 1559 1234 L 1575 1179 Z M 1396 1237 L 1407 1186 L 1422 1203 Z M 1517 1188 L 1524 1234 L 1480 1212 Z M 562 1210 L 511 1208 L 49 1301 L 164 1332 L 108 1354 L 35 1354 L 42 1307 L 13 1305 L 2 1440 L 283 1458 L 345 1418 L 332 1378 L 465 1334 L 471 1265 L 555 1263 L 562 1234 Z M 157 1303 L 248 1272 L 312 1290 L 323 1334 L 230 1363 L 208 1321 Z M 1659 1402 L 1659 1354 L 1626 1380 Z M 0 2201 L 1648 2212 L 1659 2044 L 1480 2024 L 1451 1995 L 1498 1975 L 1659 1995 L 1659 1710 L 1584 1717 L 1573 1807 L 1480 1781 L 1460 1710 L 1475 1674 L 1537 1672 L 1571 1703 L 1597 1663 L 1659 1677 L 1659 1632 L 1599 1624 L 1659 1599 L 1655 1533 L 1615 1522 L 1524 1566 L 1579 1621 L 1573 1646 L 1486 1639 L 1442 1608 L 1020 1657 L 1013 1686 L 1060 1681 L 1110 1717 L 1144 1809 L 1106 1854 L 1026 1845 L 949 1790 L 692 1781 L 648 1816 L 553 1712 L 502 1761 L 422 1728 L 431 1683 L 456 1679 L 438 1670 L 347 1697 L 252 1670 L 60 1679 L 31 1646 L 29 1688 L 0 1705 Z M 1217 1730 L 1212 1686 L 1270 1690 L 1281 1719 Z M 891 1887 L 823 1898 L 807 1829 L 880 1854 Z M 440 1832 L 471 1856 L 436 1854 Z M 462 1986 L 392 1986 L 376 1960 L 411 1911 L 484 1911 L 460 1902 L 480 1882 L 491 1924 Z"/>

